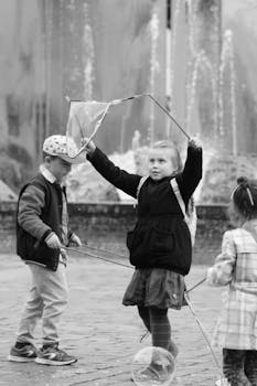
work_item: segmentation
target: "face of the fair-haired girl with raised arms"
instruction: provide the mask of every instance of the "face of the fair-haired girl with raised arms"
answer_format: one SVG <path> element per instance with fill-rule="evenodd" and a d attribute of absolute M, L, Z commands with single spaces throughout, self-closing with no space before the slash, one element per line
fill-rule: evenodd
<path fill-rule="evenodd" d="M 178 170 L 178 162 L 172 149 L 151 149 L 148 172 L 152 180 L 159 181 Z"/>

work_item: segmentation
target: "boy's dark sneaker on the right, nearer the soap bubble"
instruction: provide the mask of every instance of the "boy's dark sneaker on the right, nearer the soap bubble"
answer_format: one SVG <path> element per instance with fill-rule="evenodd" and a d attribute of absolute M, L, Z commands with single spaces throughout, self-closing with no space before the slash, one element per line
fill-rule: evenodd
<path fill-rule="evenodd" d="M 40 365 L 63 366 L 77 362 L 77 358 L 60 350 L 57 345 L 52 345 L 40 349 L 35 362 Z"/>

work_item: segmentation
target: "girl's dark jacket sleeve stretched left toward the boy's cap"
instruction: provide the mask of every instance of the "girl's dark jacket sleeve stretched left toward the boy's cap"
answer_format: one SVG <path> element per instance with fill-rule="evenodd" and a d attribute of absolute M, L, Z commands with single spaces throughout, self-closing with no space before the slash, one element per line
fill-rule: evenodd
<path fill-rule="evenodd" d="M 125 193 L 137 197 L 137 189 L 141 179 L 138 174 L 131 174 L 116 167 L 100 149 L 96 148 L 92 156 L 87 156 L 93 167 L 113 185 Z"/>

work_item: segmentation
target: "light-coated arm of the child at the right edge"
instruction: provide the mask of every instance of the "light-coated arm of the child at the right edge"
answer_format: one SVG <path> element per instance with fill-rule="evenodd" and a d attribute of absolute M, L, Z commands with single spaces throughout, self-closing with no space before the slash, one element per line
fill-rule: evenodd
<path fill-rule="evenodd" d="M 226 286 L 232 281 L 236 265 L 236 249 L 231 232 L 225 232 L 222 242 L 222 253 L 217 256 L 213 267 L 207 270 L 207 283 L 211 286 Z"/>

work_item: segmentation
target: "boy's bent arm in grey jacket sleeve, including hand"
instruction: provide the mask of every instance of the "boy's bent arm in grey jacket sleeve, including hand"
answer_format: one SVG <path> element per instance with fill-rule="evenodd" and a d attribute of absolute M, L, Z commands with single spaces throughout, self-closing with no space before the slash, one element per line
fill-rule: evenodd
<path fill-rule="evenodd" d="M 45 240 L 50 248 L 60 248 L 57 235 L 40 218 L 44 205 L 44 192 L 38 186 L 29 185 L 19 202 L 18 223 L 33 237 Z"/>

